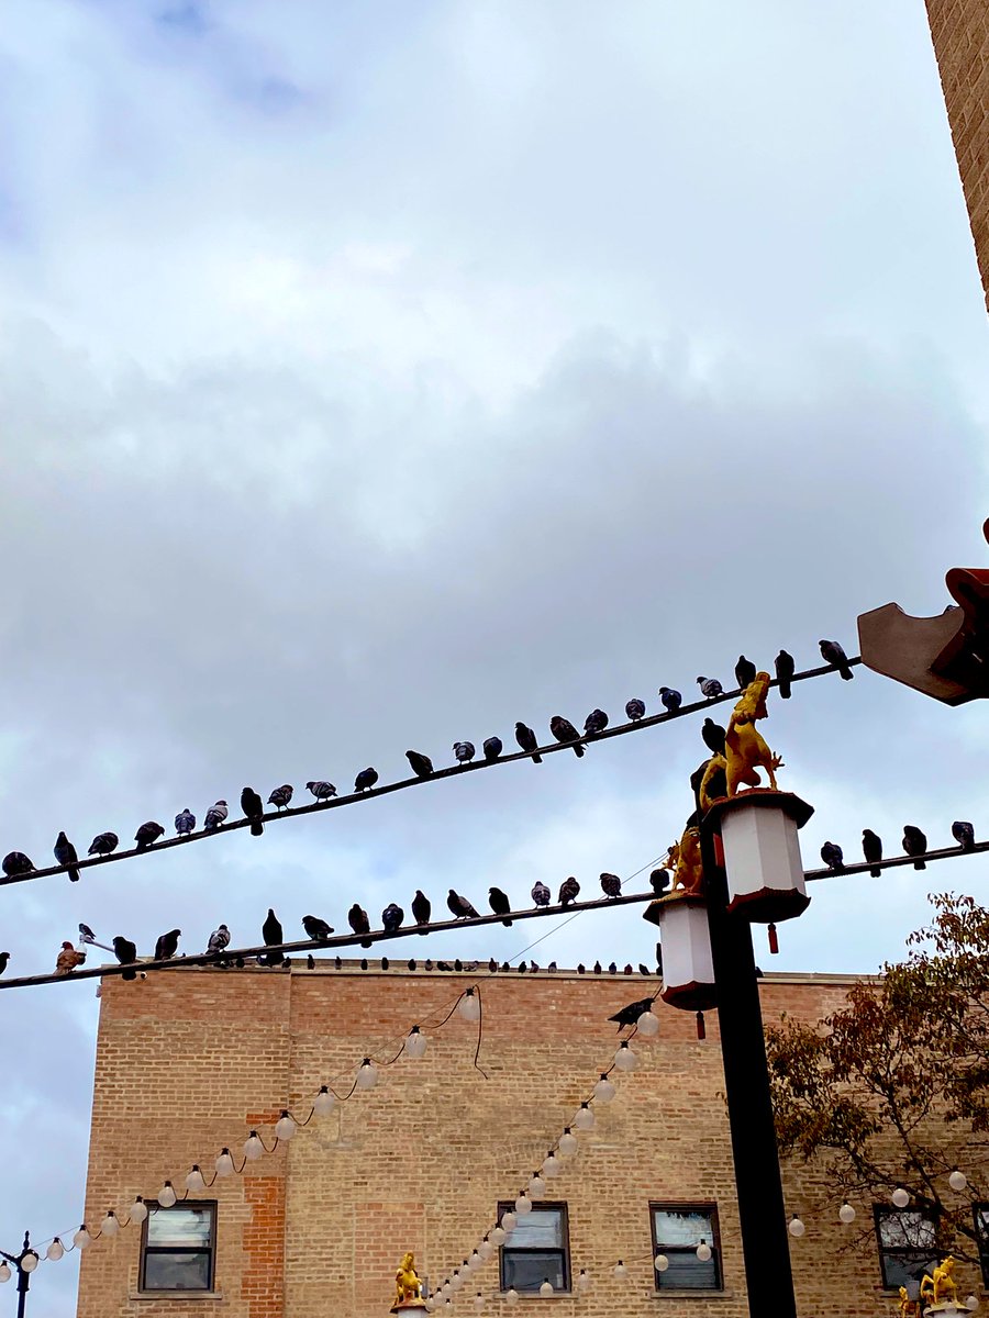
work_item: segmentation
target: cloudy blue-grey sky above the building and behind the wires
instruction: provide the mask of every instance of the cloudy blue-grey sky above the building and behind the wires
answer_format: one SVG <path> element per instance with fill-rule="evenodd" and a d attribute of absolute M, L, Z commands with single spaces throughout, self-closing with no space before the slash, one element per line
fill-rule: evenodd
<path fill-rule="evenodd" d="M 34 0 L 0 67 L 0 850 L 654 709 L 740 650 L 806 667 L 986 561 L 989 333 L 920 0 Z M 808 863 L 989 829 L 981 706 L 858 670 L 771 714 Z M 8 974 L 79 920 L 200 950 L 270 902 L 297 933 L 592 887 L 665 850 L 702 751 L 684 720 L 11 888 Z M 986 867 L 819 884 L 774 969 L 876 969 L 931 887 Z M 614 912 L 534 954 L 653 942 Z M 3 1248 L 80 1219 L 96 1019 L 92 982 L 0 996 Z M 32 1318 L 74 1284 L 46 1265 Z"/>

